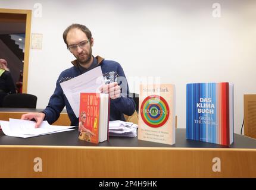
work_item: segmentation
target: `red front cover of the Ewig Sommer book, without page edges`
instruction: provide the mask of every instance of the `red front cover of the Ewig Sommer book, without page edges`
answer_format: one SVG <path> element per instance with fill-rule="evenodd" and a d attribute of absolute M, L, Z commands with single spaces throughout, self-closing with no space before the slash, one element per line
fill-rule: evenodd
<path fill-rule="evenodd" d="M 80 93 L 80 140 L 99 143 L 99 103 L 99 93 Z"/>

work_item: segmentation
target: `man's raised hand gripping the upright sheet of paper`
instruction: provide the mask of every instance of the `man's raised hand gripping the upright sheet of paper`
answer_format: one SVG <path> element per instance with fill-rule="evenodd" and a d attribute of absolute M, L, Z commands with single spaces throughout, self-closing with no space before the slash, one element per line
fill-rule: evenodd
<path fill-rule="evenodd" d="M 105 84 L 101 88 L 99 88 L 99 90 L 101 91 L 101 93 L 110 94 L 110 98 L 113 100 L 120 97 L 121 93 L 121 87 L 117 84 L 117 82 Z"/>

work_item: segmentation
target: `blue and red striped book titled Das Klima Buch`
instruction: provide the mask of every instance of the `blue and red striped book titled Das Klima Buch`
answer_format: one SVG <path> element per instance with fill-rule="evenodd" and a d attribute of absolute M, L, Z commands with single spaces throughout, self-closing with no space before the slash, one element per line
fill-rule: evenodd
<path fill-rule="evenodd" d="M 233 143 L 233 84 L 186 85 L 186 138 L 221 145 Z"/>

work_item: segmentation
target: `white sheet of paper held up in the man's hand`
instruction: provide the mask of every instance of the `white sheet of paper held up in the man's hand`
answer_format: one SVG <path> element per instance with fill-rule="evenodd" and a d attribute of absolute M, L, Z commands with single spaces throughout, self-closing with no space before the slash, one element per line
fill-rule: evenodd
<path fill-rule="evenodd" d="M 80 93 L 101 93 L 99 87 L 105 84 L 101 66 L 85 72 L 78 77 L 61 83 L 61 88 L 74 114 L 79 118 Z"/>

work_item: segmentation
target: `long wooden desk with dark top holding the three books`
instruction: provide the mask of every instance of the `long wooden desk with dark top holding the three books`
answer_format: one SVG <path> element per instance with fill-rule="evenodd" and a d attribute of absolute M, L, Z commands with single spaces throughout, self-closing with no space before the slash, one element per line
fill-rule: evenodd
<path fill-rule="evenodd" d="M 174 145 L 137 137 L 96 145 L 77 135 L 77 128 L 26 139 L 0 134 L 0 177 L 256 178 L 256 140 L 238 134 L 230 147 L 186 140 L 185 129 L 176 130 Z"/>

